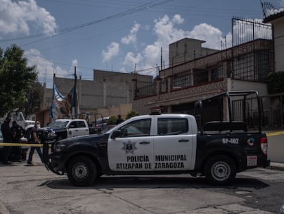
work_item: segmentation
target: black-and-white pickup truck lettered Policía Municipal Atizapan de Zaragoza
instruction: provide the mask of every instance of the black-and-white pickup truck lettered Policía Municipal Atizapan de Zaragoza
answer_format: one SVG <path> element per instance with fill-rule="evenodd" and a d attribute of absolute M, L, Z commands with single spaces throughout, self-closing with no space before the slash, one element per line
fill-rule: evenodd
<path fill-rule="evenodd" d="M 260 105 L 257 92 L 225 92 L 198 101 L 195 116 L 136 116 L 106 133 L 60 140 L 52 153 L 44 145 L 46 167 L 67 173 L 75 186 L 91 185 L 101 175 L 169 173 L 204 175 L 211 184 L 229 184 L 237 172 L 270 164 L 261 127 L 247 131 L 246 122 L 231 120 L 232 103 L 246 104 L 252 94 L 257 98 L 250 103 Z M 228 114 L 216 110 L 220 108 L 229 109 Z M 245 119 L 243 110 L 239 114 Z M 211 117 L 219 120 L 208 121 Z"/>

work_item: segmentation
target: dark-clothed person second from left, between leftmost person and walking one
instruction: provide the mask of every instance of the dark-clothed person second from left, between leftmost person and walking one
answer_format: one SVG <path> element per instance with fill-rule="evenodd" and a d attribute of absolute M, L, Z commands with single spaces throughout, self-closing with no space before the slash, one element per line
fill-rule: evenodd
<path fill-rule="evenodd" d="M 21 125 L 18 125 L 16 121 L 12 122 L 12 131 L 16 133 L 13 138 L 13 142 L 20 143 L 21 138 L 23 137 L 23 133 L 25 129 Z M 21 147 L 12 147 L 12 154 L 14 154 L 14 160 L 21 162 L 22 161 L 22 149 Z"/>

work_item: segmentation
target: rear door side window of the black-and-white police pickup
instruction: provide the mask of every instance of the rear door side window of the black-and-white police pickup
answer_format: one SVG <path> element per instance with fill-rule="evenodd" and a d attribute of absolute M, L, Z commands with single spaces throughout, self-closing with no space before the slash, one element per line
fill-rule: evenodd
<path fill-rule="evenodd" d="M 158 118 L 159 136 L 187 133 L 188 130 L 187 118 Z"/>

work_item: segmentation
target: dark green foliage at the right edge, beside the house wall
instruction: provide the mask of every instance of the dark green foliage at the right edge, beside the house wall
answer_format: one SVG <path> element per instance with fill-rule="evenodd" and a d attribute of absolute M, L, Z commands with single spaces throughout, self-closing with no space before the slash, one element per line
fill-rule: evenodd
<path fill-rule="evenodd" d="M 268 94 L 284 92 L 284 72 L 270 73 L 268 76 Z"/>

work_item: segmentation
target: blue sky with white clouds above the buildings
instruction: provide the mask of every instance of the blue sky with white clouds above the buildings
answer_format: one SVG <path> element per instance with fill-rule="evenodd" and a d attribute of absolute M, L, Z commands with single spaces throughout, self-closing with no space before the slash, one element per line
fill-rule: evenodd
<path fill-rule="evenodd" d="M 283 8 L 284 0 L 267 0 Z M 38 79 L 93 79 L 93 69 L 156 76 L 169 44 L 185 37 L 204 47 L 230 45 L 231 18 L 263 19 L 259 0 L 0 0 L 0 47 L 25 50 Z"/>

